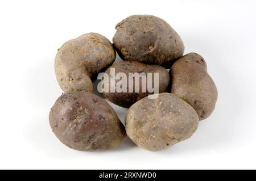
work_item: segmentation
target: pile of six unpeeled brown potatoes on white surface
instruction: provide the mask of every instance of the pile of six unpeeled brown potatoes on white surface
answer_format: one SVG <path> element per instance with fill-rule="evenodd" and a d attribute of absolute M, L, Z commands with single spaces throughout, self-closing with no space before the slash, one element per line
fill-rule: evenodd
<path fill-rule="evenodd" d="M 98 33 L 86 33 L 58 49 L 55 73 L 64 93 L 49 113 L 53 133 L 64 145 L 83 151 L 117 148 L 126 134 L 150 151 L 191 137 L 217 101 L 204 58 L 183 55 L 180 36 L 156 16 L 132 15 L 115 29 L 113 44 Z M 123 61 L 114 63 L 115 52 Z M 148 99 L 154 92 L 103 93 L 110 102 L 129 108 L 125 125 L 104 99 L 92 93 L 93 79 L 104 71 L 110 74 L 110 68 L 115 74 L 159 73 L 155 99 Z"/>

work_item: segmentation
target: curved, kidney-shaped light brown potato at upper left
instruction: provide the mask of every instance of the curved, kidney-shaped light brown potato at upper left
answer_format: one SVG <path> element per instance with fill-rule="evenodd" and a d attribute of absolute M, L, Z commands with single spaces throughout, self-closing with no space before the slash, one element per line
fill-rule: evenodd
<path fill-rule="evenodd" d="M 93 90 L 91 78 L 113 64 L 115 50 L 106 37 L 86 33 L 69 40 L 58 49 L 55 57 L 55 74 L 61 89 Z"/>

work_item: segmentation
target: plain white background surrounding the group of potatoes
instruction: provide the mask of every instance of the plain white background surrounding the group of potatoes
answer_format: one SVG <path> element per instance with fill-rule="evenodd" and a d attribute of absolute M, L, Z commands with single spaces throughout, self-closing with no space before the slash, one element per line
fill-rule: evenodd
<path fill-rule="evenodd" d="M 185 53 L 205 58 L 216 109 L 189 140 L 164 151 L 129 139 L 110 151 L 69 149 L 48 124 L 61 94 L 57 48 L 87 32 L 112 40 L 115 24 L 133 14 L 166 20 Z M 255 1 L 1 1 L 0 169 L 256 169 L 255 17 Z M 126 110 L 113 107 L 123 121 Z"/>

